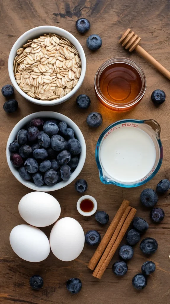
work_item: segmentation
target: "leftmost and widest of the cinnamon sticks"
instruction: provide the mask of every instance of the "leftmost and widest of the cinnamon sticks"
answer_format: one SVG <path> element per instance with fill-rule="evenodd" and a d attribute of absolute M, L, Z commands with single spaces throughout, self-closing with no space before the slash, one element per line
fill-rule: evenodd
<path fill-rule="evenodd" d="M 98 261 L 100 260 L 103 252 L 105 251 L 105 248 L 107 247 L 110 239 L 112 238 L 113 233 L 115 232 L 116 227 L 118 226 L 120 219 L 122 218 L 123 213 L 125 212 L 126 208 L 129 206 L 129 203 L 130 203 L 129 201 L 124 199 L 121 206 L 119 207 L 114 219 L 112 220 L 112 223 L 108 227 L 108 230 L 106 231 L 104 237 L 102 238 L 95 253 L 93 254 L 91 260 L 88 263 L 88 268 L 90 268 L 91 270 L 94 270 Z"/>

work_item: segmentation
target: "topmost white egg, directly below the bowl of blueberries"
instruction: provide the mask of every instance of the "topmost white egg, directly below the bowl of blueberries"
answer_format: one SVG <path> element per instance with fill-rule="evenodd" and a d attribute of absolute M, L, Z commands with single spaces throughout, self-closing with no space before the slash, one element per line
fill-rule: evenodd
<path fill-rule="evenodd" d="M 18 205 L 20 216 L 36 227 L 49 226 L 56 222 L 61 213 L 59 202 L 45 192 L 31 192 L 23 196 Z"/>

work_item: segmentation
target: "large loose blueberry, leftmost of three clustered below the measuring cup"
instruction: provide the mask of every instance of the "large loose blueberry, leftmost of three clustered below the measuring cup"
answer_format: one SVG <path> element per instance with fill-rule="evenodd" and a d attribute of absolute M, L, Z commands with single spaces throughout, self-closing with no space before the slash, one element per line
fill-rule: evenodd
<path fill-rule="evenodd" d="M 141 192 L 140 201 L 145 207 L 154 207 L 158 202 L 158 195 L 153 189 L 144 189 Z"/>

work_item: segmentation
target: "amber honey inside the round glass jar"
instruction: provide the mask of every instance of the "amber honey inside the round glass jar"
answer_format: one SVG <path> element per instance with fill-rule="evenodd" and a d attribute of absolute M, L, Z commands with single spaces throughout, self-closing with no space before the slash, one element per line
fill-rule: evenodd
<path fill-rule="evenodd" d="M 114 63 L 102 71 L 99 87 L 109 101 L 126 104 L 138 96 L 142 88 L 142 80 L 138 71 L 131 65 Z"/>

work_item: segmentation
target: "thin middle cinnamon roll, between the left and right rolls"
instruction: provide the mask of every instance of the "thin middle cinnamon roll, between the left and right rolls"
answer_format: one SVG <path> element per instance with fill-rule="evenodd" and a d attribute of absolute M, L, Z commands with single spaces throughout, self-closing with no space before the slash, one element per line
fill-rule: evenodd
<path fill-rule="evenodd" d="M 118 234 L 119 234 L 119 232 L 120 232 L 120 230 L 121 230 L 121 228 L 122 228 L 122 226 L 123 226 L 123 224 L 125 222 L 125 219 L 127 218 L 129 212 L 131 211 L 131 209 L 132 209 L 132 207 L 128 206 L 126 208 L 125 212 L 123 213 L 122 218 L 121 218 L 120 222 L 118 223 L 118 226 L 117 226 L 115 232 L 113 233 L 110 242 L 108 243 L 108 245 L 107 245 L 107 247 L 106 247 L 106 249 L 105 249 L 105 251 L 104 251 L 104 253 L 103 253 L 103 255 L 102 255 L 102 257 L 101 257 L 101 259 L 99 261 L 99 263 L 98 263 L 98 265 L 96 266 L 96 268 L 95 268 L 95 270 L 93 272 L 93 276 L 94 277 L 97 276 L 98 271 L 100 270 L 100 268 L 102 267 L 104 261 L 108 257 L 108 254 L 109 254 L 110 250 L 112 249 L 112 246 L 115 243 L 115 240 L 116 240 L 116 238 L 117 238 L 117 236 L 118 236 Z"/>

